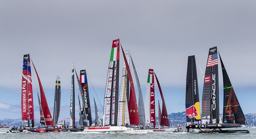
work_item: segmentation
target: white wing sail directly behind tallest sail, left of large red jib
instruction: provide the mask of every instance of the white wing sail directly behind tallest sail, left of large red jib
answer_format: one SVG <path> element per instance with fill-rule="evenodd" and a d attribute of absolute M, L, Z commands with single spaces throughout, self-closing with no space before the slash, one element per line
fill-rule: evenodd
<path fill-rule="evenodd" d="M 127 60 L 129 61 L 130 52 L 126 51 L 125 55 Z M 128 104 L 127 104 L 127 98 L 126 98 L 126 93 L 129 92 L 129 90 L 126 89 L 126 86 L 129 85 L 129 82 L 127 82 L 127 79 L 128 79 L 127 70 L 126 70 L 126 65 L 124 63 L 122 78 L 121 78 L 120 93 L 119 93 L 119 99 L 118 99 L 118 125 L 125 125 L 126 123 L 130 124 L 129 113 L 127 110 Z"/>

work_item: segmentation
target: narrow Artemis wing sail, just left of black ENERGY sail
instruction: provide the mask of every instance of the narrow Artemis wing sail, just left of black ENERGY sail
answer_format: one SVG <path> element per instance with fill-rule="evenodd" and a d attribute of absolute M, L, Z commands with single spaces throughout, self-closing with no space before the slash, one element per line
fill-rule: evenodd
<path fill-rule="evenodd" d="M 75 98 L 74 98 L 74 63 L 72 63 L 72 74 L 71 74 L 71 97 L 70 97 L 70 112 L 69 112 L 69 125 L 75 127 Z"/>

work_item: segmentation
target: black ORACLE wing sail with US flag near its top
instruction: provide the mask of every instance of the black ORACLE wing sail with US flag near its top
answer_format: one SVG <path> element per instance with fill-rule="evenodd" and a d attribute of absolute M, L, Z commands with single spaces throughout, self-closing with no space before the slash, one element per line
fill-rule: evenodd
<path fill-rule="evenodd" d="M 218 87 L 217 46 L 209 49 L 204 87 L 202 93 L 202 122 L 219 123 L 219 87 Z"/>

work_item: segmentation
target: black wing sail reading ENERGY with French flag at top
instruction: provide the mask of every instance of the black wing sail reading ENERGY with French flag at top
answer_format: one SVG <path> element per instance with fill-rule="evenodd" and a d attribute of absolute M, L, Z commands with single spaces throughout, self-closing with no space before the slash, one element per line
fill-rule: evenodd
<path fill-rule="evenodd" d="M 89 89 L 87 83 L 86 70 L 80 70 L 80 84 L 82 87 L 83 97 L 85 103 L 85 113 L 86 117 L 89 120 L 89 125 L 92 125 L 92 113 L 91 113 L 91 105 L 90 105 L 90 97 L 89 97 Z"/>

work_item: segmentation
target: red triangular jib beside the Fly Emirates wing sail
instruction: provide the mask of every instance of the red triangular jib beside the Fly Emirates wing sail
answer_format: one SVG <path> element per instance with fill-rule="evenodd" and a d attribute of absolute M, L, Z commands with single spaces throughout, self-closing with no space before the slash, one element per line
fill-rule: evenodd
<path fill-rule="evenodd" d="M 33 67 L 36 71 L 36 68 L 35 68 L 35 65 L 32 61 L 32 64 L 33 64 Z M 39 76 L 37 74 L 37 71 L 36 71 L 36 76 L 37 76 L 37 79 L 38 79 L 38 83 L 39 83 L 39 88 L 40 88 L 40 95 L 41 95 L 41 105 L 42 105 L 42 109 L 43 109 L 43 115 L 45 117 L 45 124 L 46 125 L 52 125 L 54 126 L 54 122 L 53 122 L 53 119 L 52 119 L 52 115 L 50 113 L 50 110 L 49 110 L 49 107 L 48 107 L 48 104 L 47 104 L 47 100 L 45 98 L 45 92 L 43 91 L 43 86 L 42 86 L 42 83 L 39 79 Z"/>

